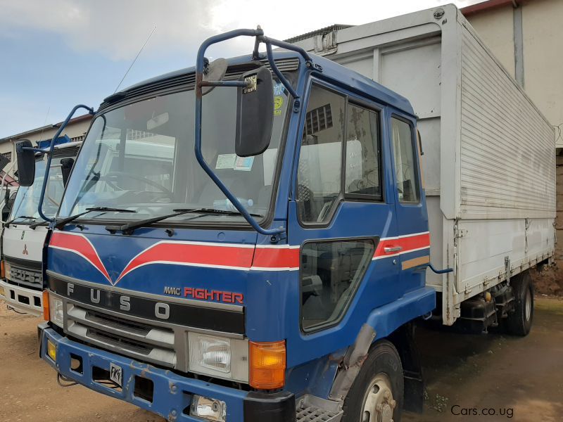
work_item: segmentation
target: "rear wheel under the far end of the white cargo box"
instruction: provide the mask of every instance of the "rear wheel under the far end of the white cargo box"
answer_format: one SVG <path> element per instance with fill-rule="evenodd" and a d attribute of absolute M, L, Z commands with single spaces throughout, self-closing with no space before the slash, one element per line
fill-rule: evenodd
<path fill-rule="evenodd" d="M 514 312 L 507 316 L 507 332 L 512 335 L 528 335 L 533 322 L 533 283 L 529 271 L 524 271 L 510 282 L 514 290 Z"/>

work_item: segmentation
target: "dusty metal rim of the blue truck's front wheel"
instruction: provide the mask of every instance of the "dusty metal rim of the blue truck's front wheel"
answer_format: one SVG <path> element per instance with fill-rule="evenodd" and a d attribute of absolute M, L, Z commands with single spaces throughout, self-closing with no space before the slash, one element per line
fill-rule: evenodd
<path fill-rule="evenodd" d="M 391 380 L 386 374 L 378 373 L 368 384 L 364 394 L 360 422 L 393 422 L 396 405 Z"/>

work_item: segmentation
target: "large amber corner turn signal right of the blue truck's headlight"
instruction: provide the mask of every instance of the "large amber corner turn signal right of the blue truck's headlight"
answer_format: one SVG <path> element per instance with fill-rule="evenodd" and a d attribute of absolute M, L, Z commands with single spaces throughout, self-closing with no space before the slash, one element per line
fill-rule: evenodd
<path fill-rule="evenodd" d="M 285 340 L 250 342 L 250 385 L 259 390 L 282 388 L 286 376 Z"/>

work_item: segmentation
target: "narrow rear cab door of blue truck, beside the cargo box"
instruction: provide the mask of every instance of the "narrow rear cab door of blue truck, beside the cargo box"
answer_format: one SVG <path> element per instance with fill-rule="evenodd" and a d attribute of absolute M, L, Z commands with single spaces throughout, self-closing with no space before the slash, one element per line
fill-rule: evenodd
<path fill-rule="evenodd" d="M 415 121 L 391 113 L 389 127 L 398 223 L 398 238 L 393 248 L 400 260 L 400 285 L 406 293 L 424 286 L 426 266 L 430 262 L 430 234 Z"/>

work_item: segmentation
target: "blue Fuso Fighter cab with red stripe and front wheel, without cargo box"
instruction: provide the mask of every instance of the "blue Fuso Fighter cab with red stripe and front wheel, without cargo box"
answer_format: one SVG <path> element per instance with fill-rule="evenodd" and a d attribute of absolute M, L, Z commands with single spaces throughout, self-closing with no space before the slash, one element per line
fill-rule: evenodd
<path fill-rule="evenodd" d="M 205 58 L 235 37 L 253 52 Z M 79 108 L 94 118 L 49 219 L 38 328 L 63 385 L 169 421 L 422 409 L 413 323 L 437 307 L 426 271 L 452 269 L 430 264 L 406 98 L 258 27 L 66 122 Z M 16 149 L 25 185 L 34 148 Z"/>

